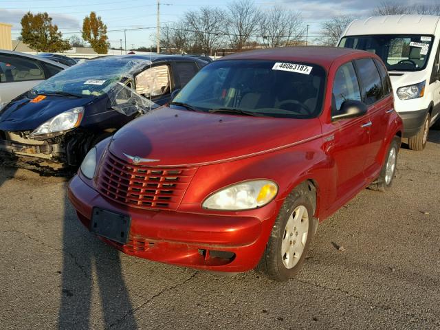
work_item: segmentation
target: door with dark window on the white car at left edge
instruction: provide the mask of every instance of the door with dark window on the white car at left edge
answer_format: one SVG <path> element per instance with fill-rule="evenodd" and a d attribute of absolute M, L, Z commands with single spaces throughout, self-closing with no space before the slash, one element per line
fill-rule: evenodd
<path fill-rule="evenodd" d="M 44 79 L 44 68 L 39 61 L 0 54 L 0 103 L 9 102 Z"/>

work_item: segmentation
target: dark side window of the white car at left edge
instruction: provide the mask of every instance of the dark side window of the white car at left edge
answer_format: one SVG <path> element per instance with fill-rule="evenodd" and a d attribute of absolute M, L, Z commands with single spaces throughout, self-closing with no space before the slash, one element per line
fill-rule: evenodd
<path fill-rule="evenodd" d="M 0 55 L 1 83 L 45 79 L 43 67 L 32 58 Z"/>

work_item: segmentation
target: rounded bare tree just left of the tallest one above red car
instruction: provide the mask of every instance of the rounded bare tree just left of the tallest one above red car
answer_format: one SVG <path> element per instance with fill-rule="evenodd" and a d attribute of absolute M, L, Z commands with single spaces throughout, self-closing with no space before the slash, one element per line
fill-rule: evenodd
<path fill-rule="evenodd" d="M 226 30 L 226 13 L 220 8 L 201 7 L 197 11 L 186 12 L 184 24 L 188 32 L 195 36 L 195 46 L 199 45 L 206 55 L 221 47 Z"/>

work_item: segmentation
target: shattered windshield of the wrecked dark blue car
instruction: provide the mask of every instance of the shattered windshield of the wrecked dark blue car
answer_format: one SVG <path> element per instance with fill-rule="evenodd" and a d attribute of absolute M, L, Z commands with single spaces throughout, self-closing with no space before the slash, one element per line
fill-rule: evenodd
<path fill-rule="evenodd" d="M 124 78 L 131 78 L 148 64 L 149 61 L 128 59 L 87 61 L 45 80 L 34 88 L 34 93 L 100 96 Z"/>

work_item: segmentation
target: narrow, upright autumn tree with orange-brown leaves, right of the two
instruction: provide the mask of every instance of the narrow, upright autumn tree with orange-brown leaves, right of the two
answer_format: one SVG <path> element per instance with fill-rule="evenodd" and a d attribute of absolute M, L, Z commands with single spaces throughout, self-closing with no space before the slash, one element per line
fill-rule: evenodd
<path fill-rule="evenodd" d="M 107 54 L 107 25 L 102 23 L 101 17 L 96 17 L 95 12 L 85 17 L 83 21 L 83 39 L 90 43 L 98 54 Z"/>

